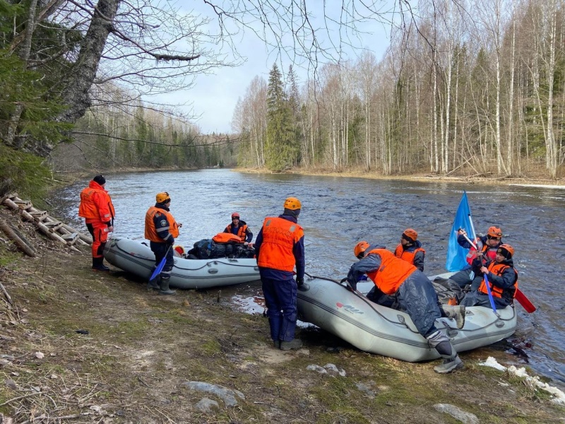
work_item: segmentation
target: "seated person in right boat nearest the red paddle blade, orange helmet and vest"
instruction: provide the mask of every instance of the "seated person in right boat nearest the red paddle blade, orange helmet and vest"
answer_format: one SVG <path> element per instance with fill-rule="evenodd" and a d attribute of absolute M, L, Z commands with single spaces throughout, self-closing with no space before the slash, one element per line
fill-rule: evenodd
<path fill-rule="evenodd" d="M 511 305 L 518 288 L 518 271 L 514 268 L 514 249 L 511 245 L 500 245 L 496 250 L 494 261 L 488 261 L 482 266 L 481 272 L 487 276 L 492 300 L 496 308 L 505 308 Z M 461 300 L 463 306 L 490 307 L 487 283 L 483 281 L 475 291 L 467 293 Z"/>

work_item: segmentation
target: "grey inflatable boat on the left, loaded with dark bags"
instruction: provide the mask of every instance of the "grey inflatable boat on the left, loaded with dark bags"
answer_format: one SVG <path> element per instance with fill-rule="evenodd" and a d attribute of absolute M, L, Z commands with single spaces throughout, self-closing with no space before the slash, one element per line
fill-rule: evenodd
<path fill-rule="evenodd" d="M 155 255 L 148 245 L 129 238 L 108 240 L 104 257 L 119 269 L 148 280 L 155 265 Z M 174 288 L 210 288 L 233 285 L 259 279 L 256 259 L 174 258 L 169 285 Z"/>

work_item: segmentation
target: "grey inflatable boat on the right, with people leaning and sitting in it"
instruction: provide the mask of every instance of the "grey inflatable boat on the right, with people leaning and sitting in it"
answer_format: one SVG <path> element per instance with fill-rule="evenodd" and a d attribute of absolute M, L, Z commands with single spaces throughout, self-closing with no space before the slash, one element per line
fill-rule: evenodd
<path fill-rule="evenodd" d="M 368 293 L 372 286 L 371 282 L 358 283 L 357 289 Z M 377 305 L 337 281 L 321 277 L 305 281 L 298 291 L 297 303 L 302 322 L 319 326 L 362 351 L 407 362 L 439 358 L 408 314 Z M 458 329 L 450 318 L 437 319 L 436 327 L 451 339 L 458 352 L 470 351 L 514 333 L 514 307 L 497 312 L 498 315 L 486 307 L 468 307 L 463 329 Z"/>

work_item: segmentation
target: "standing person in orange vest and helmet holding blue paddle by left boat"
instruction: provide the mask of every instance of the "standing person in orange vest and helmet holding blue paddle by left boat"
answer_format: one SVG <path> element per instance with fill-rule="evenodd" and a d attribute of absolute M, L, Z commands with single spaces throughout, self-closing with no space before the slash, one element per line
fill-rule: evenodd
<path fill-rule="evenodd" d="M 151 252 L 155 254 L 153 271 L 157 269 L 163 258 L 165 258 L 165 266 L 159 274 L 160 283 L 157 284 L 157 278 L 155 278 L 149 281 L 148 288 L 159 290 L 160 295 L 174 295 L 176 292 L 169 289 L 171 271 L 174 266 L 172 245 L 174 245 L 174 237 L 179 237 L 179 228 L 182 227 L 182 224 L 178 224 L 169 212 L 171 206 L 169 193 L 157 193 L 155 201 L 157 201 L 155 206 L 151 206 L 145 213 L 145 238 L 149 240 Z"/>

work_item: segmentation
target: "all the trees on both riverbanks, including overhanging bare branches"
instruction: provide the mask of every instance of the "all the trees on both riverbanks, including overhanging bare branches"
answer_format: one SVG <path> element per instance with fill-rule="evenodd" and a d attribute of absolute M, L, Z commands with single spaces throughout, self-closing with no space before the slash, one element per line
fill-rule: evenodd
<path fill-rule="evenodd" d="M 328 53 L 311 18 L 330 4 L 277 4 L 209 3 L 214 19 L 169 1 L 0 0 L 3 150 L 61 172 L 239 165 L 562 177 L 563 0 L 400 2 L 386 54 L 350 43 L 357 59 L 348 60 L 343 31 L 383 25 L 379 11 L 342 3 Z M 268 81 L 249 82 L 231 134 L 202 134 L 178 105 L 147 100 L 241 64 L 234 35 L 251 28 L 244 16 L 270 23 L 264 40 L 280 52 L 285 40 L 266 32 L 290 31 L 291 56 L 313 65 L 305 81 L 278 57 Z"/>

